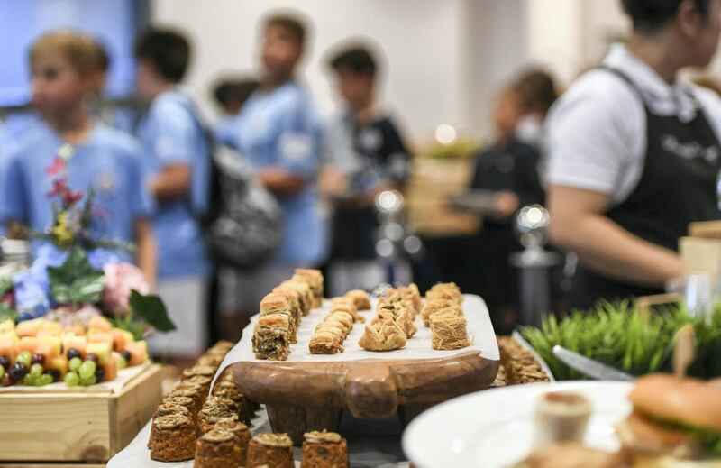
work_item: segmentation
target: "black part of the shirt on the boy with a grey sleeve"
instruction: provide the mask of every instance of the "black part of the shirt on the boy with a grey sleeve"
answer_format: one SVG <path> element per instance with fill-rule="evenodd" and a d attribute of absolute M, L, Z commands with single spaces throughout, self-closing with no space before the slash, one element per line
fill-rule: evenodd
<path fill-rule="evenodd" d="M 351 138 L 351 192 L 363 195 L 388 182 L 403 185 L 410 168 L 410 153 L 388 116 L 369 124 L 344 120 Z M 376 229 L 379 226 L 374 206 L 357 207 L 352 201 L 338 201 L 333 213 L 331 260 L 372 260 L 376 258 Z"/>

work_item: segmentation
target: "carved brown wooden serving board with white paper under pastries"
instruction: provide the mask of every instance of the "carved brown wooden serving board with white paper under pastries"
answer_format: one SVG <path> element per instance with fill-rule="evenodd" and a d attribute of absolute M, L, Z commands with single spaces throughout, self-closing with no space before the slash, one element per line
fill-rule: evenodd
<path fill-rule="evenodd" d="M 467 352 L 435 352 L 423 359 L 393 359 L 394 353 L 368 353 L 376 359 L 336 360 L 306 355 L 300 361 L 268 362 L 240 360 L 233 363 L 233 375 L 242 393 L 268 408 L 273 430 L 287 432 L 301 441 L 309 430 L 334 430 L 340 423 L 343 408 L 355 418 L 390 418 L 394 415 L 409 422 L 416 414 L 447 399 L 488 388 L 496 379 L 499 367 L 497 343 L 488 319 L 488 309 L 465 310 L 469 314 L 483 314 L 484 343 L 495 349 L 481 353 L 479 347 Z M 465 308 L 465 307 L 464 307 Z M 326 311 L 311 314 L 324 315 Z M 311 316 L 309 316 L 311 317 Z M 306 318 L 307 319 L 307 318 Z M 486 325 L 487 324 L 487 325 Z M 419 326 L 423 326 L 419 324 Z M 362 324 L 356 327 L 362 329 Z M 354 328 L 355 330 L 355 328 Z M 247 328 L 244 333 L 249 333 Z M 488 332 L 488 333 L 486 333 Z M 358 334 L 349 336 L 344 346 L 357 346 Z M 490 335 L 490 337 L 488 336 Z M 422 344 L 430 349 L 429 338 Z M 238 346 L 250 345 L 244 337 Z M 349 343 L 351 341 L 351 343 Z M 301 353 L 304 339 L 299 335 L 293 353 Z M 233 352 L 231 352 L 233 353 Z M 357 355 L 357 354 L 356 354 Z M 399 353 L 399 355 L 407 355 Z M 293 356 L 293 354 L 291 354 Z M 298 357 L 296 357 L 298 359 Z"/>

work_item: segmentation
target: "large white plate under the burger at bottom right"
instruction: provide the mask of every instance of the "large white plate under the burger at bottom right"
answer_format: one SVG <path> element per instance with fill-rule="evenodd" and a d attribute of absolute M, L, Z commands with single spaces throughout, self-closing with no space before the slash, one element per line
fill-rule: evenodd
<path fill-rule="evenodd" d="M 415 418 L 403 435 L 403 450 L 418 468 L 506 468 L 530 453 L 537 399 L 547 391 L 574 390 L 593 406 L 585 444 L 614 451 L 614 426 L 631 410 L 627 396 L 633 387 L 570 381 L 477 391 Z"/>

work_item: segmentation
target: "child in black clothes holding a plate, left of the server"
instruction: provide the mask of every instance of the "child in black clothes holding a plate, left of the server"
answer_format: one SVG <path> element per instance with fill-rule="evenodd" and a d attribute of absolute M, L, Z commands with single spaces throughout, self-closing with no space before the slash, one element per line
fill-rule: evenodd
<path fill-rule="evenodd" d="M 470 180 L 471 189 L 489 192 L 491 199 L 477 234 L 477 249 L 470 255 L 477 259 L 479 294 L 500 334 L 513 330 L 518 306 L 518 270 L 509 262 L 511 253 L 521 250 L 514 229 L 516 213 L 545 201 L 539 152 L 518 138 L 518 127 L 530 116 L 540 129 L 553 96 L 552 78 L 540 70 L 526 72 L 501 91 L 494 109 L 494 142 L 479 151 Z"/>

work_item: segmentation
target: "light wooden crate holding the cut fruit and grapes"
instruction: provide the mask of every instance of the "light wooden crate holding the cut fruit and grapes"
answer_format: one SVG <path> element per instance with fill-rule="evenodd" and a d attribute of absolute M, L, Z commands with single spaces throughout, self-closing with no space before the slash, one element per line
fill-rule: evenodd
<path fill-rule="evenodd" d="M 0 467 L 107 462 L 151 418 L 160 383 L 160 366 L 151 365 L 116 394 L 92 387 L 0 393 Z"/>

